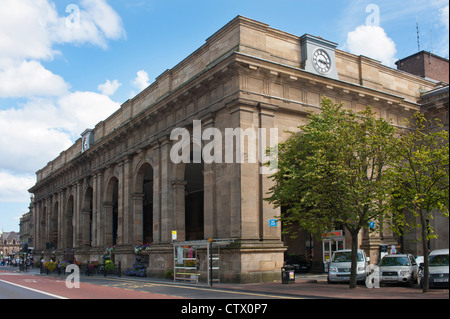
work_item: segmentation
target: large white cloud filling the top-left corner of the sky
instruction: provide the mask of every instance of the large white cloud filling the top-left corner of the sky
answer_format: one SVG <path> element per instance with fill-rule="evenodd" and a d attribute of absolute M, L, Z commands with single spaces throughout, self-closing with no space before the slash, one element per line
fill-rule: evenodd
<path fill-rule="evenodd" d="M 106 48 L 108 39 L 125 37 L 120 16 L 105 0 L 83 0 L 76 8 L 77 12 L 60 16 L 50 0 L 2 0 L 0 60 L 48 60 L 60 54 L 54 44 L 91 43 Z"/>

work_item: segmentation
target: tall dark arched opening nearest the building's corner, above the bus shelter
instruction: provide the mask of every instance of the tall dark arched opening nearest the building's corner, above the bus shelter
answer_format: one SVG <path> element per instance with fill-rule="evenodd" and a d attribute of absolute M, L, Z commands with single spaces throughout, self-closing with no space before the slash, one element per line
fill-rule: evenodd
<path fill-rule="evenodd" d="M 185 166 L 185 227 L 186 240 L 204 239 L 203 162 Z"/>

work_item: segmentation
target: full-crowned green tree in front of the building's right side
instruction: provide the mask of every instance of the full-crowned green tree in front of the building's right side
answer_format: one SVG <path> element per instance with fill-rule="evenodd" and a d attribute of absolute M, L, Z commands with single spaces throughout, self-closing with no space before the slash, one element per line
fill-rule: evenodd
<path fill-rule="evenodd" d="M 352 237 L 350 288 L 356 287 L 358 234 L 388 211 L 395 128 L 368 107 L 355 113 L 322 100 L 319 114 L 278 145 L 278 171 L 267 201 L 280 220 L 319 236 L 342 225 Z"/>

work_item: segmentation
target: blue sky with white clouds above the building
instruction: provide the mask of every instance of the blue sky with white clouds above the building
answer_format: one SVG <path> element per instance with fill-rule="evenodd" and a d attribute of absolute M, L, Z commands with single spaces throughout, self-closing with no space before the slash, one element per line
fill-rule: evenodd
<path fill-rule="evenodd" d="M 448 58 L 448 6 L 448 0 L 0 0 L 0 227 L 19 230 L 38 169 L 237 15 L 322 36 L 394 67 L 417 52 L 416 21 L 421 50 Z"/>

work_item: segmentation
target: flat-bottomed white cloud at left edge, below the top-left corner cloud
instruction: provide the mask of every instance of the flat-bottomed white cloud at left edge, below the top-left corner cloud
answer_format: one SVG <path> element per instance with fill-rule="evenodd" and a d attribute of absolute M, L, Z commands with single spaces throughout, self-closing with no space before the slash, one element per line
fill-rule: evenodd
<path fill-rule="evenodd" d="M 37 61 L 0 63 L 0 97 L 55 96 L 68 89 L 61 76 Z"/>

